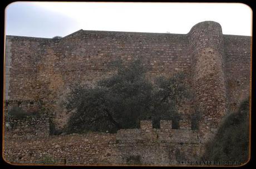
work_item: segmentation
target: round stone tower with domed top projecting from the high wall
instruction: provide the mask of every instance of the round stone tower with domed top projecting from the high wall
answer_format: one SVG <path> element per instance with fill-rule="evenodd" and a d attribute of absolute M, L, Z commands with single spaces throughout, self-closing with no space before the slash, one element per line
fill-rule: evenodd
<path fill-rule="evenodd" d="M 214 133 L 226 112 L 223 34 L 219 23 L 205 21 L 188 33 L 196 111 L 200 131 Z"/>

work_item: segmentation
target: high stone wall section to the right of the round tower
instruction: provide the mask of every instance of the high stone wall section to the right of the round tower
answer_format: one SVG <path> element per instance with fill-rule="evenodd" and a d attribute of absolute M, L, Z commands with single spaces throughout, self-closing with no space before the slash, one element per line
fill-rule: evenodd
<path fill-rule="evenodd" d="M 228 108 L 235 111 L 250 95 L 251 38 L 225 35 L 223 40 Z"/>

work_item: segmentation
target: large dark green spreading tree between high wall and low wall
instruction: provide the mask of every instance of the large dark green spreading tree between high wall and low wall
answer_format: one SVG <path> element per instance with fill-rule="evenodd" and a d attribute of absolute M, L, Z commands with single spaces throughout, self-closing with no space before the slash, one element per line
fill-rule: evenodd
<path fill-rule="evenodd" d="M 176 80 L 184 76 L 159 78 L 153 85 L 146 80 L 147 69 L 140 60 L 127 66 L 116 62 L 114 66 L 116 74 L 95 87 L 72 88 L 67 109 L 76 111 L 68 121 L 67 132 L 116 132 L 138 128 L 140 120 L 152 120 L 157 127 L 160 119 L 178 117 L 175 102 L 185 90 Z"/>

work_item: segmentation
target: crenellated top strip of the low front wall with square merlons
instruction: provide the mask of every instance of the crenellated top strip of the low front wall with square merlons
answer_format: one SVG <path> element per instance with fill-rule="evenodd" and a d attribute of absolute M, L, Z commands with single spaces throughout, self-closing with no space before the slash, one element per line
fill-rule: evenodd
<path fill-rule="evenodd" d="M 171 123 L 161 120 L 160 128 L 152 128 L 151 121 L 140 121 L 140 128 L 117 131 L 116 139 L 120 142 L 200 142 L 198 131 L 191 130 L 188 121 L 181 121 L 179 129 L 173 129 Z"/>

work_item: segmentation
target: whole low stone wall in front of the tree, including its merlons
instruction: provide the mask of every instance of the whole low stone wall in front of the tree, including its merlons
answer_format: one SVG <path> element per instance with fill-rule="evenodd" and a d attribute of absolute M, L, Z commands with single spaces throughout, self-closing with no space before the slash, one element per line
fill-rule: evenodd
<path fill-rule="evenodd" d="M 201 136 L 182 126 L 171 129 L 171 121 L 141 121 L 140 129 L 111 133 L 71 134 L 51 137 L 16 138 L 4 143 L 4 159 L 11 163 L 42 164 L 47 158 L 65 165 L 178 165 L 198 158 Z M 14 128 L 13 128 L 14 130 Z M 49 162 L 49 161 L 48 161 Z"/>

